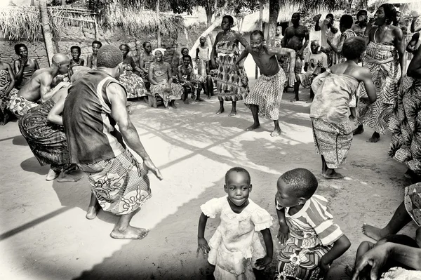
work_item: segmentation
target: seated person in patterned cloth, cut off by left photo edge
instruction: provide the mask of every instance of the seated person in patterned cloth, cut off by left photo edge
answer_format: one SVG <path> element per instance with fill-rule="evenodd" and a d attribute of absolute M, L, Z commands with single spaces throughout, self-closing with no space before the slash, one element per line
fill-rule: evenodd
<path fill-rule="evenodd" d="M 15 75 L 10 64 L 0 61 L 0 126 L 7 124 L 12 113 L 8 110 L 9 95 L 17 93 Z"/>

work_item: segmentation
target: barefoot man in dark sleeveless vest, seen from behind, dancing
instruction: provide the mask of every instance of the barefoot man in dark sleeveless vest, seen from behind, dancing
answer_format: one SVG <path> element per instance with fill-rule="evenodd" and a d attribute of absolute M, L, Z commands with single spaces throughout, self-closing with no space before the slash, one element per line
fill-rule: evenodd
<path fill-rule="evenodd" d="M 79 164 L 91 183 L 91 203 L 86 218 L 99 210 L 120 215 L 111 236 L 142 239 L 147 229 L 132 227 L 135 212 L 151 196 L 148 171 L 162 179 L 126 110 L 127 93 L 119 78 L 123 54 L 115 46 L 98 51 L 98 70 L 77 80 L 65 101 L 63 124 L 72 163 Z M 115 125 L 119 126 L 119 131 Z M 120 134 L 121 133 L 121 134 Z M 141 165 L 124 145 L 138 154 Z"/>

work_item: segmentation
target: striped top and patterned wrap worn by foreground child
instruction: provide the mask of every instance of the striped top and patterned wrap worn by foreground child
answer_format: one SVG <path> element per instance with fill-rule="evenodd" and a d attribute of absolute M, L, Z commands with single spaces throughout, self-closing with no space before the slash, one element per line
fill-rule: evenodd
<path fill-rule="evenodd" d="M 283 209 L 278 201 L 276 209 Z M 275 279 L 323 279 L 319 268 L 321 258 L 343 235 L 340 227 L 333 222 L 328 201 L 314 194 L 295 215 L 289 215 L 288 211 L 286 207 L 285 218 L 290 238 L 279 252 Z"/>

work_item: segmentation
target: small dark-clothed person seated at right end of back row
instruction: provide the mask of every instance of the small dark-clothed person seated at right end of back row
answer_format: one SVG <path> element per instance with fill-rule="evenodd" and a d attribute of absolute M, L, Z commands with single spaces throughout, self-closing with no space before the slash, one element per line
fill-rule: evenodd
<path fill-rule="evenodd" d="M 190 55 L 184 55 L 182 57 L 182 65 L 178 67 L 178 81 L 184 88 L 184 98 L 183 102 L 185 104 L 189 104 L 189 100 L 187 99 L 187 96 L 189 93 L 192 93 L 192 99 L 197 101 L 204 101 L 200 98 L 200 93 L 202 90 L 201 82 L 198 81 L 196 78 L 196 75 L 194 74 L 193 68 L 190 65 L 192 63 L 192 57 Z M 197 88 L 197 97 L 196 91 Z"/>

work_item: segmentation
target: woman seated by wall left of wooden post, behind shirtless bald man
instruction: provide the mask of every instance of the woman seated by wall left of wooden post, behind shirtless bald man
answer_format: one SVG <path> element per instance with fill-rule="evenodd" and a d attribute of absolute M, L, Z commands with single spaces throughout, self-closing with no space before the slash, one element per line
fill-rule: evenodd
<path fill-rule="evenodd" d="M 13 62 L 15 66 L 15 88 L 22 88 L 31 79 L 32 74 L 39 69 L 38 61 L 28 58 L 28 48 L 25 44 L 16 44 L 15 53 L 19 59 Z"/>

